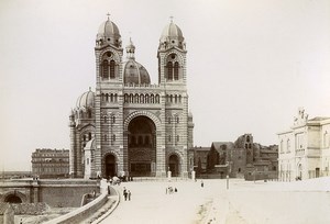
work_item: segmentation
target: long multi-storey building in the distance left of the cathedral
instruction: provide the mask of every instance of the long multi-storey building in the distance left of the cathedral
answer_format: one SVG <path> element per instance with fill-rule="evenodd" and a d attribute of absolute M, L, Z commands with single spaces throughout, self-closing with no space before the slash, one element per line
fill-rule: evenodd
<path fill-rule="evenodd" d="M 32 153 L 32 175 L 40 178 L 68 177 L 68 149 L 36 149 Z"/>

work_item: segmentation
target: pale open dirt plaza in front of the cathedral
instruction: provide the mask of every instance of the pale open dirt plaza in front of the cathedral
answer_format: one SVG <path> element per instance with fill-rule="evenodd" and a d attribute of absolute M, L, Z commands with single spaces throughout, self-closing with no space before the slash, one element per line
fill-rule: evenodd
<path fill-rule="evenodd" d="M 204 187 L 201 187 L 201 181 Z M 168 187 L 177 189 L 169 193 Z M 330 178 L 295 182 L 133 181 L 131 191 L 101 223 L 148 224 L 315 224 L 330 223 Z"/>

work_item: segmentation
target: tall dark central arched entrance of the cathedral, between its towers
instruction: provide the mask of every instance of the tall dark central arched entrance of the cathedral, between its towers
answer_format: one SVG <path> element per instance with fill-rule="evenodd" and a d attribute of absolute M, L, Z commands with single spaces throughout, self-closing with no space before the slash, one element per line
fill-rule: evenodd
<path fill-rule="evenodd" d="M 132 177 L 153 177 L 156 172 L 156 127 L 147 116 L 129 124 L 129 172 Z"/>

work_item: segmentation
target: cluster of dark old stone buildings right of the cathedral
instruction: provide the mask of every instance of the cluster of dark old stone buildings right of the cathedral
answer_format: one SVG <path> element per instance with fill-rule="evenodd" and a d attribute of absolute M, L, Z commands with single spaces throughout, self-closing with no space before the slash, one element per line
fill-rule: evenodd
<path fill-rule="evenodd" d="M 270 178 L 277 172 L 277 145 L 262 146 L 252 134 L 232 142 L 213 142 L 207 156 L 207 172 L 220 177 L 250 179 L 251 176 Z M 258 177 L 257 177 L 258 178 Z"/>

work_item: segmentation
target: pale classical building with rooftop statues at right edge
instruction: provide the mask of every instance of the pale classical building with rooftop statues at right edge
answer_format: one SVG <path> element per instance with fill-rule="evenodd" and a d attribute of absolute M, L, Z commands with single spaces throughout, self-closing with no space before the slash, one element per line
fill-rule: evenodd
<path fill-rule="evenodd" d="M 283 181 L 329 175 L 330 117 L 308 119 L 300 108 L 289 130 L 278 133 L 278 178 Z"/>

